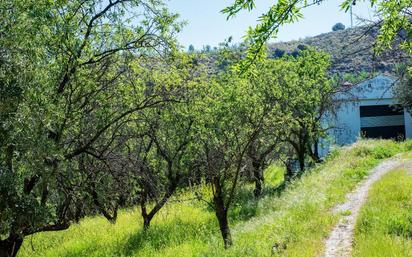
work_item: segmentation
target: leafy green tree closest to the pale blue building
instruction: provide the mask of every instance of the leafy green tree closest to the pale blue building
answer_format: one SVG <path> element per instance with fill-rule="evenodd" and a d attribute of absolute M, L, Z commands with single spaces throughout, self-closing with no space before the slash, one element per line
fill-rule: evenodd
<path fill-rule="evenodd" d="M 335 107 L 336 88 L 327 74 L 329 64 L 327 54 L 307 49 L 296 58 L 287 59 L 284 69 L 278 71 L 284 76 L 280 89 L 282 110 L 289 117 L 283 139 L 294 149 L 301 171 L 305 169 L 306 156 L 320 161 L 318 142 L 329 129 L 323 120 Z"/>

